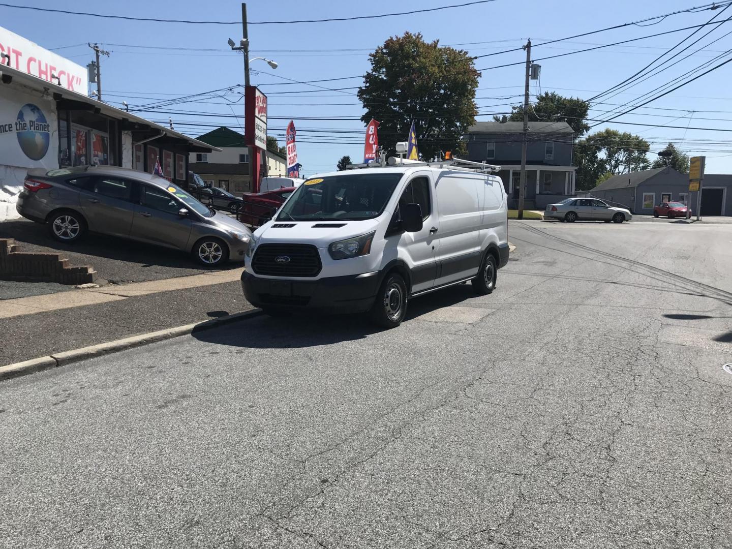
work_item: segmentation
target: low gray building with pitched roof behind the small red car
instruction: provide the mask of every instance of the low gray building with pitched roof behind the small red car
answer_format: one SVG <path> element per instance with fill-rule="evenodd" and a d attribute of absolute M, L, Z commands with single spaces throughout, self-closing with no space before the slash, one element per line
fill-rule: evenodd
<path fill-rule="evenodd" d="M 732 214 L 732 176 L 704 176 L 702 215 Z M 610 177 L 589 191 L 578 193 L 619 203 L 634 214 L 653 214 L 653 206 L 662 202 L 683 202 L 696 213 L 696 193 L 689 193 L 689 176 L 673 168 L 621 173 Z M 691 203 L 689 203 L 691 201 Z"/>

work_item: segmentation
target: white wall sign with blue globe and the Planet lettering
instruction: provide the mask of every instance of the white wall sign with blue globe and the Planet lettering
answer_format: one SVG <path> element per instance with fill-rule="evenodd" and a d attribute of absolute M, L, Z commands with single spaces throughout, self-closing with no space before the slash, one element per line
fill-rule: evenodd
<path fill-rule="evenodd" d="M 59 167 L 59 123 L 55 103 L 3 90 L 0 100 L 0 165 Z"/>

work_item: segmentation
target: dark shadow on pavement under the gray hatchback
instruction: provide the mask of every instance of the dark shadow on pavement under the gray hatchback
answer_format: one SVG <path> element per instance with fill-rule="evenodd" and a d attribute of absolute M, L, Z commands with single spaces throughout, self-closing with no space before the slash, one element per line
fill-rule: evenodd
<path fill-rule="evenodd" d="M 115 273 L 102 272 L 100 262 L 94 258 L 113 261 L 124 261 L 138 264 L 142 268 L 149 266 L 165 266 L 176 269 L 221 270 L 210 269 L 198 265 L 187 253 L 170 250 L 165 247 L 134 242 L 116 236 L 88 233 L 81 242 L 67 244 L 58 242 L 48 234 L 48 225 L 34 223 L 28 220 L 13 220 L 0 223 L 0 238 L 12 238 L 18 243 L 23 252 L 63 252 L 66 253 L 72 264 L 92 264 L 102 277 L 115 279 Z M 236 268 L 237 264 L 228 264 L 223 269 Z"/>

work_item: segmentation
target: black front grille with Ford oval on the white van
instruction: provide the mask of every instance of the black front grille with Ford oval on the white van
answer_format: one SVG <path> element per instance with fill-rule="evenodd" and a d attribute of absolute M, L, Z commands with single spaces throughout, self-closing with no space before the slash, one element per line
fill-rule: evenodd
<path fill-rule="evenodd" d="M 311 244 L 261 244 L 252 260 L 255 274 L 269 277 L 316 277 L 322 268 Z"/>

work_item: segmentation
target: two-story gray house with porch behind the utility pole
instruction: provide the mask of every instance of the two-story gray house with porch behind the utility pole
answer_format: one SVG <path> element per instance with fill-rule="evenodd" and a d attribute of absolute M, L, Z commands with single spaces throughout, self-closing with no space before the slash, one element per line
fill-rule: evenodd
<path fill-rule="evenodd" d="M 530 122 L 526 151 L 526 209 L 544 209 L 575 194 L 572 144 L 567 122 Z M 466 135 L 468 160 L 501 166 L 509 208 L 518 205 L 523 122 L 477 122 Z"/>

